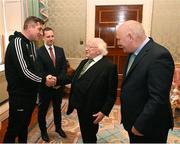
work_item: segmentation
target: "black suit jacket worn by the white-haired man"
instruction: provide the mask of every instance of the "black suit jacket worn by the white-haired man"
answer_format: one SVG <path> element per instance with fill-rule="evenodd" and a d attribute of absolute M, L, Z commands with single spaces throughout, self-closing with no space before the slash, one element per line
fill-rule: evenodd
<path fill-rule="evenodd" d="M 108 116 L 116 100 L 117 66 L 103 57 L 78 79 L 86 62 L 87 59 L 83 60 L 76 69 L 67 114 L 70 114 L 74 108 L 80 108 L 89 114 L 101 111 Z"/>

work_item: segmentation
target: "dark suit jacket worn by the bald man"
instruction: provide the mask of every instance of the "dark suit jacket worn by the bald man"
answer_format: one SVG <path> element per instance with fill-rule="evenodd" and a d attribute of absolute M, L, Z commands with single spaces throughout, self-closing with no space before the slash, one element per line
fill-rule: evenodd
<path fill-rule="evenodd" d="M 125 129 L 135 126 L 144 135 L 158 135 L 172 128 L 169 92 L 174 62 L 168 50 L 150 38 L 127 76 L 126 69 L 120 96 Z"/>

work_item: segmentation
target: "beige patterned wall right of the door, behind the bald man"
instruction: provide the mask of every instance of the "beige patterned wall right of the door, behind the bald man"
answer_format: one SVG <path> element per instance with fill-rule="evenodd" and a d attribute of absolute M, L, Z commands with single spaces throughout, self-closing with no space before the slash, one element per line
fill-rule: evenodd
<path fill-rule="evenodd" d="M 151 36 L 180 62 L 180 0 L 154 0 Z"/>

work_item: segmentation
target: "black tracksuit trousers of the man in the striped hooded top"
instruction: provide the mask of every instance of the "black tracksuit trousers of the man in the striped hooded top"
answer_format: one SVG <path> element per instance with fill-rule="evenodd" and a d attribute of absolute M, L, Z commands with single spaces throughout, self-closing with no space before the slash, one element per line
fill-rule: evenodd
<path fill-rule="evenodd" d="M 4 143 L 27 142 L 28 126 L 31 121 L 37 96 L 9 94 L 9 119 Z"/>

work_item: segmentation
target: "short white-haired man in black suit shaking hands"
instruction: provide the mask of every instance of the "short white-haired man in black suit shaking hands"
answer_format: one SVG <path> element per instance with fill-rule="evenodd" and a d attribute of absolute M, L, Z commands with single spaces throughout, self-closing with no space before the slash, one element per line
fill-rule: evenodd
<path fill-rule="evenodd" d="M 76 69 L 67 114 L 77 109 L 83 142 L 96 143 L 99 122 L 108 116 L 116 100 L 117 66 L 104 55 L 106 43 L 92 38 L 86 45 L 86 57 Z"/>

